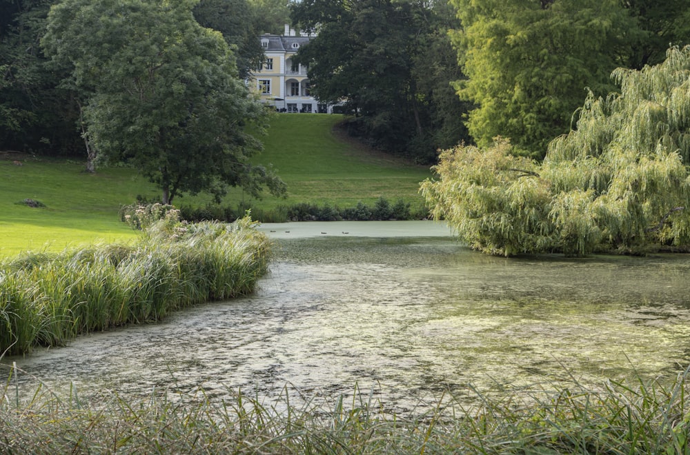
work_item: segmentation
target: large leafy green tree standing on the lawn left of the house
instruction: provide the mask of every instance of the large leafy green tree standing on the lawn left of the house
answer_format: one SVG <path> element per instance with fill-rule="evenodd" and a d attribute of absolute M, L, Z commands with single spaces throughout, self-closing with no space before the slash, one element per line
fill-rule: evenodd
<path fill-rule="evenodd" d="M 164 203 L 228 185 L 253 194 L 284 183 L 250 164 L 246 131 L 265 112 L 250 98 L 227 43 L 199 26 L 193 0 L 65 0 L 53 6 L 46 52 L 72 67 L 88 137 L 101 159 L 126 161 L 159 185 Z"/>

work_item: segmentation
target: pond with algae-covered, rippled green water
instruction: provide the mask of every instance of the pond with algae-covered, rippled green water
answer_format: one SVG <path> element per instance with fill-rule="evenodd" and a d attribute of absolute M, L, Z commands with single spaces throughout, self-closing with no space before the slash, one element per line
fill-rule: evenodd
<path fill-rule="evenodd" d="M 91 334 L 17 363 L 26 390 L 156 387 L 211 397 L 349 394 L 395 410 L 444 392 L 651 378 L 690 363 L 690 257 L 472 252 L 433 222 L 262 225 L 270 272 L 251 296 Z"/>

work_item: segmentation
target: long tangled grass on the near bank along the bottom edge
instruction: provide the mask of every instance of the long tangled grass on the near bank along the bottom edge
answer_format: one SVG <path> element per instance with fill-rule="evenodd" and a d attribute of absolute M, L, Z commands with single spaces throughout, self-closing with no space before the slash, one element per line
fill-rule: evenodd
<path fill-rule="evenodd" d="M 13 373 L 0 386 L 3 453 L 690 453 L 687 370 L 668 382 L 480 395 L 471 409 L 446 397 L 416 416 L 388 413 L 356 389 L 351 403 L 304 405 L 290 404 L 287 389 L 270 404 L 240 393 L 217 403 L 201 391 L 136 402 L 103 392 L 93 405 L 75 390 L 64 398 L 38 390 L 21 401 Z"/>

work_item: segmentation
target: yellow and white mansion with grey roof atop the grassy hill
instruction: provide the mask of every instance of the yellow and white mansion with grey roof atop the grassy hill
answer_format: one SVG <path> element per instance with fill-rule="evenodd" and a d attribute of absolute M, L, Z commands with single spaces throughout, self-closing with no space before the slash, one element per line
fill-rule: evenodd
<path fill-rule="evenodd" d="M 285 26 L 282 35 L 264 34 L 260 37 L 266 62 L 252 73 L 249 83 L 261 95 L 263 103 L 279 112 L 331 113 L 331 106 L 318 103 L 311 96 L 306 66 L 293 61 L 299 48 L 309 43 L 309 37 Z"/>

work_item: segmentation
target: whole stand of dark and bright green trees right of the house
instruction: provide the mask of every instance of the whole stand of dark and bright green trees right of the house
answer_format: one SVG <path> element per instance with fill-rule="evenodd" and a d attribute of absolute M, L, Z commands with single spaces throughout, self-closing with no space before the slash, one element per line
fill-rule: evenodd
<path fill-rule="evenodd" d="M 498 135 L 542 157 L 575 125 L 586 89 L 616 90 L 615 68 L 659 63 L 669 45 L 690 39 L 685 0 L 450 4 L 295 3 L 293 21 L 318 32 L 299 52 L 313 92 L 353 114 L 354 134 L 420 161 Z"/>

